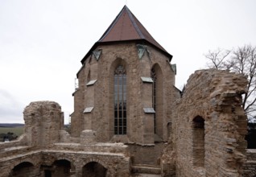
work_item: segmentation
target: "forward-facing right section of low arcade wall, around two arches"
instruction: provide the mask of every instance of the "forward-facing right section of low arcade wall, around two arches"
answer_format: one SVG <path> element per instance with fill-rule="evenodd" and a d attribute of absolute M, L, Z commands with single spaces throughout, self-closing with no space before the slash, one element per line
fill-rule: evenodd
<path fill-rule="evenodd" d="M 43 151 L 42 163 L 51 166 L 58 159 L 66 159 L 72 163 L 77 177 L 82 176 L 83 167 L 88 163 L 99 163 L 107 169 L 106 176 L 130 175 L 130 158 L 118 153 L 74 152 L 68 150 Z"/>

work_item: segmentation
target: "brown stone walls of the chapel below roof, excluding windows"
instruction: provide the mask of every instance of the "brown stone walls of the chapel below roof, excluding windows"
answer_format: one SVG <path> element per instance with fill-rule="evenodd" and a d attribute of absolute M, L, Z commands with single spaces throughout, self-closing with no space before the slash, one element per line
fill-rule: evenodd
<path fill-rule="evenodd" d="M 121 139 L 154 144 L 154 130 L 151 130 L 154 127 L 154 121 L 151 121 L 153 114 L 143 111 L 145 107 L 152 107 L 152 87 L 151 83 L 144 83 L 141 77 L 151 77 L 151 68 L 156 67 L 161 73 L 158 83 L 159 110 L 156 111 L 157 134 L 167 141 L 167 123 L 171 121 L 172 110 L 172 104 L 169 103 L 175 100 L 178 93 L 173 87 L 175 73 L 167 56 L 147 46 L 147 51 L 139 58 L 136 43 L 99 46 L 96 50 L 100 49 L 99 59 L 93 54 L 89 56 L 77 74 L 79 88 L 74 93 L 72 124 L 75 126 L 72 126 L 71 135 L 77 137 L 77 131 L 92 129 L 96 131 L 97 142 L 109 142 L 114 137 L 114 70 L 118 64 L 122 64 L 127 75 L 127 135 Z M 89 80 L 97 81 L 86 85 Z M 83 113 L 89 107 L 93 107 L 91 112 Z"/>

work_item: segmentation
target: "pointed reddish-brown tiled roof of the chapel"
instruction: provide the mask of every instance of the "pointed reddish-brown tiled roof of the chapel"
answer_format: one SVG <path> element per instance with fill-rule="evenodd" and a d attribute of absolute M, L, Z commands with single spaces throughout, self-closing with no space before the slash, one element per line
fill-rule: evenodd
<path fill-rule="evenodd" d="M 151 36 L 151 34 L 142 26 L 142 23 L 130 12 L 127 6 L 124 6 L 121 12 L 118 14 L 113 23 L 101 36 L 101 39 L 97 41 L 89 51 L 93 51 L 97 45 L 104 43 L 119 43 L 129 41 L 144 41 L 150 43 L 160 51 L 165 53 L 171 60 L 172 56 Z M 83 64 L 85 59 L 89 56 L 89 53 L 81 60 Z"/>

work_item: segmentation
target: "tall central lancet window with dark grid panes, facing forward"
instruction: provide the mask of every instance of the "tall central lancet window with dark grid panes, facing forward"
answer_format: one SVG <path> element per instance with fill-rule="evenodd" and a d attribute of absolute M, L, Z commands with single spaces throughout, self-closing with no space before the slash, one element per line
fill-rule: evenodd
<path fill-rule="evenodd" d="M 114 134 L 126 134 L 126 70 L 114 71 Z"/>

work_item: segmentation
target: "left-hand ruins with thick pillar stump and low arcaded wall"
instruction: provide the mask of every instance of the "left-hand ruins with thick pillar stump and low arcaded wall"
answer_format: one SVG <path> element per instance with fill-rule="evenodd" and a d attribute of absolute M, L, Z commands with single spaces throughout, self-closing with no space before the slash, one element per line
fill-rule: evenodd
<path fill-rule="evenodd" d="M 91 164 L 104 176 L 130 175 L 130 153 L 123 143 L 97 143 L 90 130 L 83 132 L 83 143 L 68 142 L 72 138 L 62 130 L 63 114 L 56 102 L 31 102 L 23 114 L 23 138 L 0 146 L 0 176 L 80 177 Z M 60 142 L 60 134 L 66 142 Z"/>

